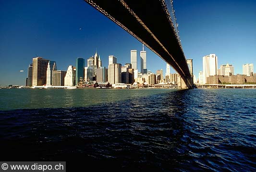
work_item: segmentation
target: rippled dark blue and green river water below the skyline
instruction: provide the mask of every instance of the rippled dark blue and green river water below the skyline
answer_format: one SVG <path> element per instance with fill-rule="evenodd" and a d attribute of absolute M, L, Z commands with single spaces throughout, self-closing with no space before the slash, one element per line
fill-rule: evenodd
<path fill-rule="evenodd" d="M 256 89 L 0 91 L 0 161 L 67 161 L 68 172 L 256 169 Z"/>

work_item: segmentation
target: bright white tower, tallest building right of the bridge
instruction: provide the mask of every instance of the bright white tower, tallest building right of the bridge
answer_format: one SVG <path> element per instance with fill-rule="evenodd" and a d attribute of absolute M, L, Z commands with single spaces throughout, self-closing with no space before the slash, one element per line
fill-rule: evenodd
<path fill-rule="evenodd" d="M 203 84 L 210 75 L 218 75 L 218 57 L 215 54 L 203 57 Z"/>

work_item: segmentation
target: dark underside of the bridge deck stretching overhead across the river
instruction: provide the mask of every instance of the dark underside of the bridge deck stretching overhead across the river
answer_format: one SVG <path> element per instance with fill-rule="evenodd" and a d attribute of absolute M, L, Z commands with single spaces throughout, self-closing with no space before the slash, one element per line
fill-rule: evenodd
<path fill-rule="evenodd" d="M 164 0 L 85 1 L 144 43 L 181 75 L 188 88 L 192 87 L 189 68 Z"/>

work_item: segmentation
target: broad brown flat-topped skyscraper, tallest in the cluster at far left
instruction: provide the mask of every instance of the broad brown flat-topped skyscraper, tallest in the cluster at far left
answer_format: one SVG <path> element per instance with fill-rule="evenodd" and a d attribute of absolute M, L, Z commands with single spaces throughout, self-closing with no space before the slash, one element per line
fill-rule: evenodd
<path fill-rule="evenodd" d="M 46 85 L 46 73 L 49 60 L 42 57 L 33 58 L 32 86 Z"/>

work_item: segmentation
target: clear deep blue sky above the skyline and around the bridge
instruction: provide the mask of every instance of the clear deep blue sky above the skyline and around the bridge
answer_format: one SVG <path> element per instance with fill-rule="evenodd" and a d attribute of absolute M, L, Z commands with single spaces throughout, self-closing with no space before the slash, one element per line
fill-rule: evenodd
<path fill-rule="evenodd" d="M 173 3 L 184 54 L 193 59 L 196 78 L 207 54 L 218 56 L 218 67 L 233 64 L 235 74 L 242 74 L 245 63 L 256 65 L 256 0 Z M 87 59 L 96 50 L 103 66 L 109 55 L 125 64 L 131 50 L 139 57 L 142 44 L 83 0 L 0 0 L 0 86 L 24 85 L 36 54 L 67 70 L 77 57 Z M 147 69 L 165 73 L 166 63 L 145 50 Z"/>

